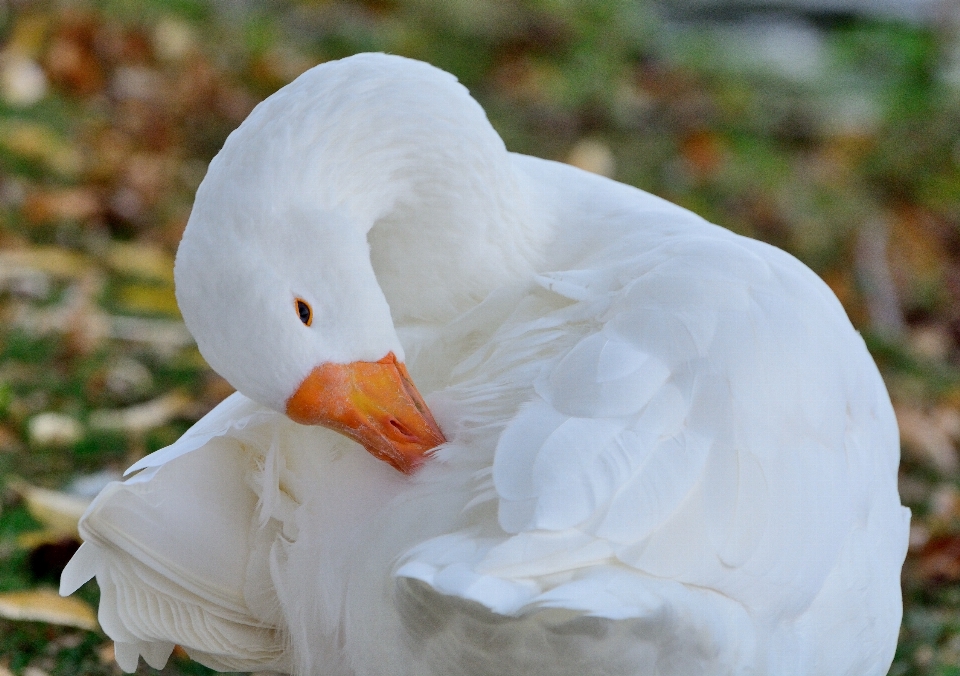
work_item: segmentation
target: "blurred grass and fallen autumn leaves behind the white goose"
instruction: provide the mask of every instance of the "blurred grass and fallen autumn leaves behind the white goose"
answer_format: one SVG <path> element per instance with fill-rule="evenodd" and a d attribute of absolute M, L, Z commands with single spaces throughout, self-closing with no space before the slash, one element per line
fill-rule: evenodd
<path fill-rule="evenodd" d="M 0 676 L 119 673 L 96 586 L 52 590 L 90 498 L 231 391 L 173 295 L 194 191 L 258 101 L 371 50 L 827 281 L 902 433 L 890 673 L 960 675 L 958 0 L 0 0 Z"/>

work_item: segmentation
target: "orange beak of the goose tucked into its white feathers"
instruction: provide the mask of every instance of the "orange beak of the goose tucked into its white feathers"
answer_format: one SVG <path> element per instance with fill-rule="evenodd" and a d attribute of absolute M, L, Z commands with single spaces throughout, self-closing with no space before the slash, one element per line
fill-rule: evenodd
<path fill-rule="evenodd" d="M 377 362 L 321 364 L 287 400 L 287 415 L 350 437 L 404 474 L 446 441 L 393 352 Z"/>

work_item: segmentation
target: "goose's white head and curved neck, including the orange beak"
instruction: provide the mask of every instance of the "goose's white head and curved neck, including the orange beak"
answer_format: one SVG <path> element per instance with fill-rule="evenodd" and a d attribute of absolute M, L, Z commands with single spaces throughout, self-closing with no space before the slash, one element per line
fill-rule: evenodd
<path fill-rule="evenodd" d="M 442 322 L 529 268 L 497 236 L 515 229 L 515 194 L 502 141 L 452 76 L 380 54 L 323 64 L 211 162 L 177 300 L 237 390 L 412 472 L 444 437 L 395 322 Z"/>

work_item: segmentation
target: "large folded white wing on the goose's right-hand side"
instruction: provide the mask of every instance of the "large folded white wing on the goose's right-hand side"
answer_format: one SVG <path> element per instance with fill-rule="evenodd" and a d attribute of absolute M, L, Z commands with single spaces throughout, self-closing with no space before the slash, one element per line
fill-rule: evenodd
<path fill-rule="evenodd" d="M 548 317 L 572 318 L 555 339 L 569 345 L 542 358 L 535 394 L 496 445 L 488 495 L 507 537 L 426 542 L 397 574 L 500 613 L 611 619 L 649 617 L 631 595 L 680 583 L 672 610 L 695 617 L 716 594 L 710 603 L 755 636 L 760 671 L 780 651 L 776 673 L 824 673 L 780 643 L 796 622 L 826 623 L 820 606 L 849 594 L 838 568 L 896 575 L 909 518 L 892 486 L 876 492 L 878 465 L 889 484 L 899 448 L 863 342 L 813 273 L 719 229 L 602 258 L 613 262 L 541 277 L 574 306 L 494 338 L 522 351 Z M 877 510 L 898 527 L 874 530 Z M 888 563 L 851 554 L 858 541 L 882 543 Z M 871 588 L 890 591 L 872 601 L 885 613 L 848 620 L 884 623 L 868 635 L 895 645 L 896 585 Z M 874 660 L 874 645 L 858 661 L 850 644 L 837 640 L 843 663 Z"/>

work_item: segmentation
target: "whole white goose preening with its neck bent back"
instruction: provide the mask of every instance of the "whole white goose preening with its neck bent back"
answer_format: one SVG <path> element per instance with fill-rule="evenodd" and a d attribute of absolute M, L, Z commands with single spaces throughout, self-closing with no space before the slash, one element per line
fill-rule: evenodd
<path fill-rule="evenodd" d="M 509 152 L 453 75 L 371 53 L 230 134 L 175 280 L 236 392 L 61 577 L 125 671 L 887 672 L 896 419 L 784 251 Z"/>

